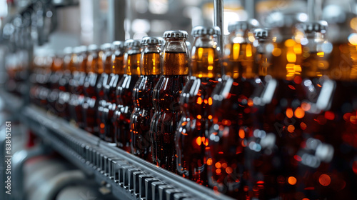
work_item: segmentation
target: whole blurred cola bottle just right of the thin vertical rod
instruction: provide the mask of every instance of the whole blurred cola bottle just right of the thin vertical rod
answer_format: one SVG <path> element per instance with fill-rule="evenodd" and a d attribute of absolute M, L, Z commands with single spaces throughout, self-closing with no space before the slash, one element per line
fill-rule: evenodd
<path fill-rule="evenodd" d="M 223 80 L 213 93 L 213 125 L 208 133 L 208 185 L 236 199 L 245 199 L 248 171 L 244 137 L 251 134 L 253 92 L 261 87 L 253 28 L 258 21 L 228 25 L 228 44 L 223 56 Z"/>

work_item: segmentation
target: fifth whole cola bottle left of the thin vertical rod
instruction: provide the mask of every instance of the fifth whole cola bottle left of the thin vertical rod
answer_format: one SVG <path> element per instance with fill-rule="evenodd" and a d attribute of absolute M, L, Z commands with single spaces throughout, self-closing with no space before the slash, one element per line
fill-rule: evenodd
<path fill-rule="evenodd" d="M 124 42 L 114 41 L 111 44 L 111 74 L 108 77 L 108 84 L 104 88 L 104 94 L 106 94 L 106 106 L 103 109 L 103 118 L 105 129 L 104 136 L 105 140 L 109 142 L 115 142 L 115 131 L 114 131 L 114 112 L 116 110 L 117 99 L 116 99 L 116 87 L 118 86 L 119 80 L 124 75 Z"/>

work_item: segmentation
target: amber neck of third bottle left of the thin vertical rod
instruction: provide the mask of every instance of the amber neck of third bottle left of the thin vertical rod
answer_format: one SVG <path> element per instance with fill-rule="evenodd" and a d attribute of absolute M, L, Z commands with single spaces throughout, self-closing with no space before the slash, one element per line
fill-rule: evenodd
<path fill-rule="evenodd" d="M 141 75 L 160 75 L 160 46 L 151 45 L 146 46 L 141 53 Z"/>

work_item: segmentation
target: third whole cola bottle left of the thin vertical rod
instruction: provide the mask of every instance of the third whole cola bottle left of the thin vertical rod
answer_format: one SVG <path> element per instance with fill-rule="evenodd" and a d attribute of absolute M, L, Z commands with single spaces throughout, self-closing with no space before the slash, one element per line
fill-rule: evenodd
<path fill-rule="evenodd" d="M 141 76 L 134 86 L 134 111 L 130 119 L 132 154 L 152 162 L 150 123 L 154 115 L 153 89 L 160 78 L 162 39 L 144 37 L 141 40 Z"/>

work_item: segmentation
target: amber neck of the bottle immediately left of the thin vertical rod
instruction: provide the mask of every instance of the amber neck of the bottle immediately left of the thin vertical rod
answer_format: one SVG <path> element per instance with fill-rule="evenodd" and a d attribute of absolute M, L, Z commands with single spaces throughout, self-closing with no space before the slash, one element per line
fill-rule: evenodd
<path fill-rule="evenodd" d="M 191 76 L 210 79 L 221 77 L 220 53 L 216 48 L 215 37 L 196 37 L 191 52 Z"/>

